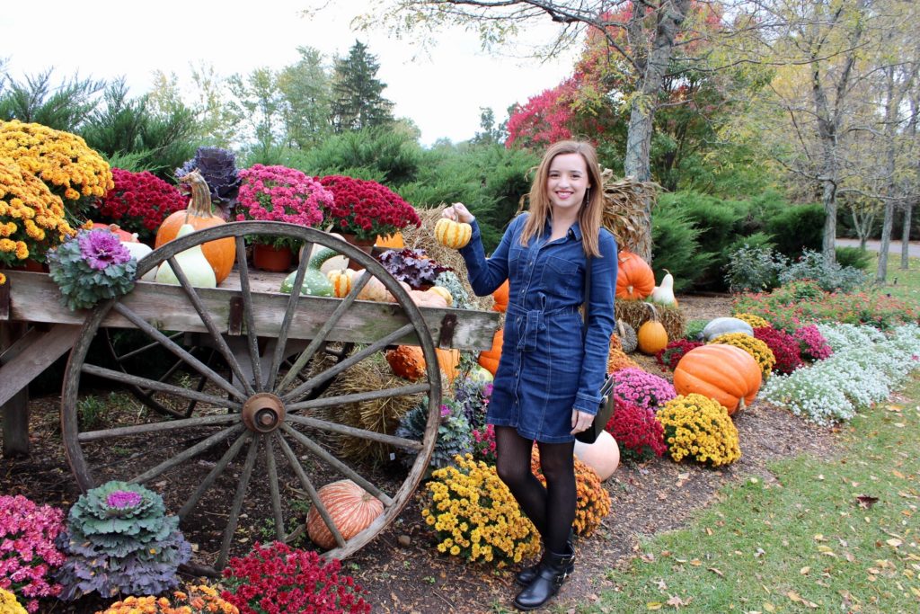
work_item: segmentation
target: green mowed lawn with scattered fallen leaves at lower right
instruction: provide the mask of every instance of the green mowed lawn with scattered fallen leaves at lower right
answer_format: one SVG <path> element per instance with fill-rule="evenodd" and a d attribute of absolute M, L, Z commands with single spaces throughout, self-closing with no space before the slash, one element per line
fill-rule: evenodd
<path fill-rule="evenodd" d="M 775 481 L 723 490 L 690 527 L 644 541 L 581 611 L 920 611 L 918 434 L 914 371 L 842 426 L 834 458 L 776 462 Z"/>

